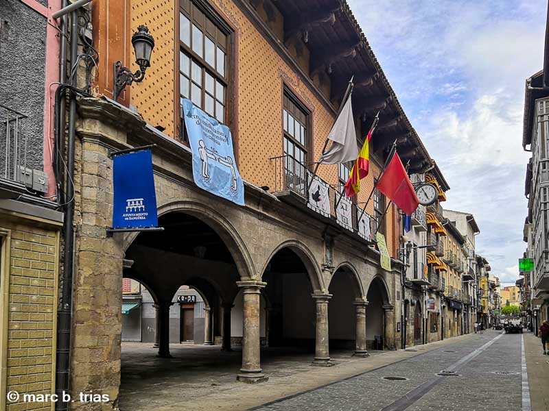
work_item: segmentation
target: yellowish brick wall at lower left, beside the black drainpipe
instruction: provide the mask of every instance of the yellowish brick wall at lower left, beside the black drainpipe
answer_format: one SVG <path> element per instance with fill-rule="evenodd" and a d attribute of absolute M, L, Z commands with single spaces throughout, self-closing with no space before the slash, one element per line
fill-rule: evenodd
<path fill-rule="evenodd" d="M 2 360 L 0 407 L 9 391 L 54 392 L 59 232 L 0 216 Z M 8 264 L 9 262 L 9 264 Z M 6 338 L 7 337 L 7 338 Z M 6 404 L 5 410 L 50 410 L 49 403 Z"/>

